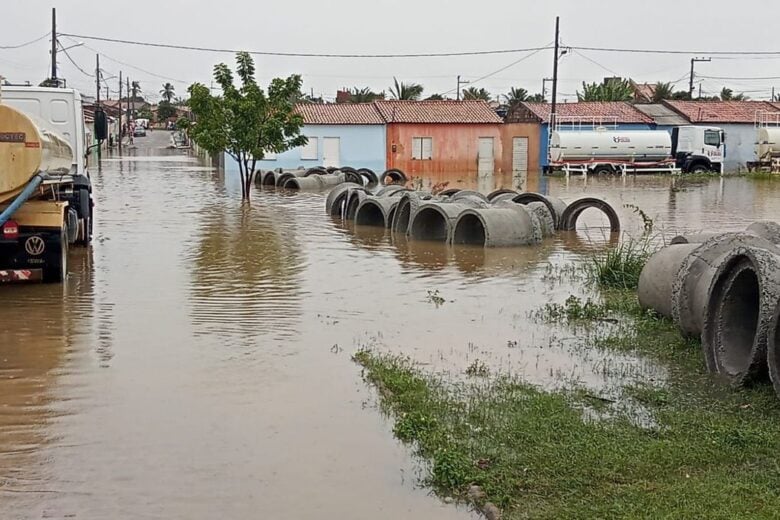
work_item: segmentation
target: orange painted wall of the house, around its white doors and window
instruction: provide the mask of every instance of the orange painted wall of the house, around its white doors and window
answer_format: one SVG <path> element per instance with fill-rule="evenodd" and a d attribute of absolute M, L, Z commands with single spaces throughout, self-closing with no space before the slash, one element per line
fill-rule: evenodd
<path fill-rule="evenodd" d="M 512 138 L 528 137 L 528 168 L 537 171 L 539 131 L 529 124 L 406 124 L 387 126 L 387 167 L 398 168 L 407 175 L 476 174 L 479 161 L 479 138 L 494 139 L 494 172 L 512 171 Z M 432 158 L 412 159 L 412 139 L 432 138 Z"/>

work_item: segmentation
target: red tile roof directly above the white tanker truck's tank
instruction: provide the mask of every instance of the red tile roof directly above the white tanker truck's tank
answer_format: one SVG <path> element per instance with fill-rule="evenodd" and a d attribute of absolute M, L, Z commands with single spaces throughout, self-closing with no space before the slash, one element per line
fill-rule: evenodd
<path fill-rule="evenodd" d="M 550 122 L 549 103 L 522 103 L 540 122 Z M 630 103 L 623 101 L 587 101 L 581 103 L 558 103 L 556 107 L 559 123 L 603 122 L 651 124 L 653 119 Z"/>

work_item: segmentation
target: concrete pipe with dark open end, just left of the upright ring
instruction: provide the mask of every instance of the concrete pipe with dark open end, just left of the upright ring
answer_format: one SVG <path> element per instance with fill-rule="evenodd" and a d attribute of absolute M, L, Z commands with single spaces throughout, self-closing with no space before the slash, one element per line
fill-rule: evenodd
<path fill-rule="evenodd" d="M 503 202 L 486 209 L 466 209 L 455 222 L 452 243 L 484 247 L 537 244 L 540 233 L 524 206 Z"/>

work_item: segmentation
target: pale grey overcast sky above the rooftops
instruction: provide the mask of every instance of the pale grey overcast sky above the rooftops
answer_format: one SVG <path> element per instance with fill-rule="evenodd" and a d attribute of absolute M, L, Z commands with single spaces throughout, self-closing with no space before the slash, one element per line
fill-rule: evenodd
<path fill-rule="evenodd" d="M 0 46 L 24 43 L 50 31 L 57 8 L 61 33 L 104 36 L 199 47 L 301 53 L 436 53 L 546 46 L 561 16 L 561 39 L 572 46 L 701 51 L 780 51 L 774 0 L 545 0 L 494 2 L 371 2 L 297 0 L 134 0 L 95 2 L 5 1 Z M 773 12 L 770 12 L 773 11 Z M 69 54 L 86 72 L 95 68 L 95 51 L 108 74 L 120 70 L 158 97 L 163 78 L 178 93 L 188 84 L 211 82 L 215 63 L 233 56 L 213 52 L 153 49 L 88 39 Z M 65 47 L 73 40 L 62 37 Z M 49 75 L 49 40 L 21 49 L 0 49 L 0 75 L 11 82 L 40 82 Z M 456 76 L 477 79 L 506 67 L 527 53 L 414 59 L 330 59 L 257 57 L 258 77 L 300 73 L 307 92 L 332 99 L 340 87 L 387 90 L 393 76 L 419 82 L 425 93 L 454 95 Z M 705 55 L 706 56 L 706 55 Z M 618 75 L 639 81 L 677 81 L 687 89 L 692 55 L 648 55 L 577 51 L 561 60 L 562 99 L 573 99 L 582 81 Z M 60 55 L 59 75 L 94 93 L 94 80 Z M 120 64 L 117 61 L 124 62 Z M 136 68 L 133 68 L 136 67 Z M 139 69 L 143 69 L 139 70 Z M 780 54 L 762 59 L 713 59 L 697 64 L 706 76 L 780 76 Z M 475 86 L 493 95 L 510 87 L 541 91 L 552 75 L 552 51 L 542 51 L 484 79 Z M 704 92 L 729 86 L 754 99 L 768 99 L 780 79 L 701 79 Z M 110 80 L 111 89 L 117 88 Z M 105 89 L 103 90 L 105 92 Z M 549 95 L 549 94 L 548 94 Z M 112 94 L 114 97 L 115 94 Z"/>

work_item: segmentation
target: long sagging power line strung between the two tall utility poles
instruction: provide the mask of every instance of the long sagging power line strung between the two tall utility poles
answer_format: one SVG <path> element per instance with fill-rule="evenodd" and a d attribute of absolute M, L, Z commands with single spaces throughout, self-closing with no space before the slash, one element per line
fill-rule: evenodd
<path fill-rule="evenodd" d="M 142 42 L 136 40 L 122 40 L 118 38 L 105 38 L 101 36 L 89 36 L 84 34 L 61 33 L 63 36 L 71 38 L 80 38 L 84 40 L 96 40 L 111 43 L 123 43 L 127 45 L 140 45 L 143 47 L 156 47 L 163 49 L 178 49 L 185 51 L 199 52 L 220 52 L 235 54 L 244 52 L 241 49 L 225 49 L 218 47 L 196 47 L 192 45 L 174 45 L 171 43 Z M 465 52 L 431 52 L 431 53 L 412 53 L 412 54 L 332 54 L 332 53 L 311 53 L 311 52 L 272 52 L 272 51 L 245 51 L 257 56 L 283 56 L 287 58 L 446 58 L 453 56 L 485 56 L 489 54 L 517 54 L 520 52 L 543 51 L 552 47 L 531 47 L 528 49 L 499 49 L 487 51 L 465 51 Z"/>

